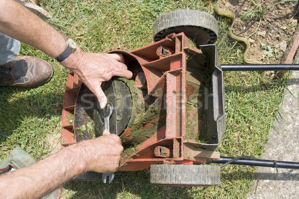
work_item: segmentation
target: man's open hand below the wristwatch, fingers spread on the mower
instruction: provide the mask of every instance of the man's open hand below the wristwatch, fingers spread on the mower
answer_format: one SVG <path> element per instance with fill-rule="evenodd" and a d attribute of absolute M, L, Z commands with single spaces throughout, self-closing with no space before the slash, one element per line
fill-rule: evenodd
<path fill-rule="evenodd" d="M 128 79 L 133 76 L 124 64 L 122 54 L 86 53 L 77 47 L 61 64 L 79 76 L 81 81 L 95 94 L 101 108 L 104 108 L 107 103 L 101 83 L 110 80 L 113 76 Z"/>

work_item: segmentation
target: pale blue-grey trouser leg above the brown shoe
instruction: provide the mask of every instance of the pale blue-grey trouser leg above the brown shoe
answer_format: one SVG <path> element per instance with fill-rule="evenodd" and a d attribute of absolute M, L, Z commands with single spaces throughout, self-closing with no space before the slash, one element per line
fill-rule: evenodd
<path fill-rule="evenodd" d="M 18 56 L 20 42 L 0 32 L 0 65 Z"/>

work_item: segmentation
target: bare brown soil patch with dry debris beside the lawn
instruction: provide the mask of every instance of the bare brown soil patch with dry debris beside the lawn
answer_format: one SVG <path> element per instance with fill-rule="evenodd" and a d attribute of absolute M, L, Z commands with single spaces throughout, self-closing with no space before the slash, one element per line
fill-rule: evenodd
<path fill-rule="evenodd" d="M 280 0 L 261 0 L 267 6 L 265 13 L 259 17 L 241 20 L 245 13 L 258 9 L 251 0 L 219 0 L 225 10 L 235 13 L 236 20 L 233 33 L 249 39 L 250 48 L 247 57 L 254 62 L 280 63 L 287 46 L 296 30 L 299 17 L 299 3 L 296 1 L 273 4 Z M 264 47 L 263 47 L 263 46 Z M 273 56 L 264 54 L 265 46 L 271 49 Z"/>

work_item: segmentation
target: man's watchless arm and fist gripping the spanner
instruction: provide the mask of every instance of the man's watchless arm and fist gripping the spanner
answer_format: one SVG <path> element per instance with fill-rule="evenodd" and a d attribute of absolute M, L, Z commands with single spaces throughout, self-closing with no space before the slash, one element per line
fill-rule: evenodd
<path fill-rule="evenodd" d="M 81 173 L 115 172 L 122 151 L 115 134 L 73 144 L 34 165 L 1 174 L 0 198 L 35 199 Z"/>

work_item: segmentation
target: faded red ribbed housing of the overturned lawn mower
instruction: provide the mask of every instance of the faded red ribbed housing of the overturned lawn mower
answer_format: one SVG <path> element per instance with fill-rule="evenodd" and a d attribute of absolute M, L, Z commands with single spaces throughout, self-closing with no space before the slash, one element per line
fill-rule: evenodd
<path fill-rule="evenodd" d="M 146 129 L 151 126 L 151 122 L 165 121 L 165 125 L 160 125 L 159 129 L 146 141 L 135 148 L 135 153 L 127 159 L 122 159 L 119 170 L 121 171 L 138 171 L 149 168 L 152 164 L 193 164 L 193 162 L 204 163 L 205 160 L 200 157 L 188 157 L 183 147 L 184 143 L 200 146 L 200 143 L 186 139 L 186 100 L 194 92 L 192 84 L 186 82 L 186 60 L 185 49 L 189 49 L 191 41 L 183 34 L 171 34 L 148 46 L 128 51 L 123 49 L 112 50 L 111 52 L 120 52 L 134 58 L 139 63 L 144 72 L 143 81 L 137 81 L 139 88 L 147 89 L 148 94 L 155 98 L 166 98 L 165 108 L 166 116 L 162 115 L 149 121 L 149 123 L 140 127 Z M 162 47 L 170 52 L 168 55 L 162 55 Z M 202 53 L 198 49 L 192 49 L 196 53 Z M 157 53 L 158 52 L 158 53 Z M 72 123 L 67 117 L 73 116 L 76 97 L 78 95 L 81 82 L 79 78 L 70 72 L 66 85 L 64 97 L 62 131 L 61 137 L 64 145 L 75 143 L 72 132 Z M 152 100 L 152 99 L 151 99 Z M 149 101 L 151 104 L 153 101 Z M 166 118 L 164 118 L 166 117 Z M 192 115 L 188 116 L 192 119 Z M 200 124 L 200 122 L 198 122 Z M 127 128 L 121 135 L 130 141 L 131 128 Z M 198 127 L 194 128 L 198 131 Z M 196 133 L 196 132 L 195 132 Z M 197 132 L 198 133 L 198 132 Z M 157 146 L 169 149 L 169 157 L 155 156 Z M 185 186 L 185 185 L 184 185 Z M 193 186 L 193 185 L 192 185 Z"/>

